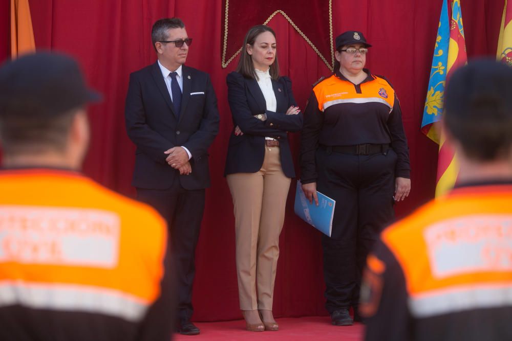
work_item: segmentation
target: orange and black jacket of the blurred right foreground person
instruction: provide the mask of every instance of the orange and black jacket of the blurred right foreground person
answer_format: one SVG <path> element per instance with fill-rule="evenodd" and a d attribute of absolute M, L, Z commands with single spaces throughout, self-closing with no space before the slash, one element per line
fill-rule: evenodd
<path fill-rule="evenodd" d="M 366 340 L 512 340 L 512 181 L 459 187 L 391 225 L 361 287 Z"/>

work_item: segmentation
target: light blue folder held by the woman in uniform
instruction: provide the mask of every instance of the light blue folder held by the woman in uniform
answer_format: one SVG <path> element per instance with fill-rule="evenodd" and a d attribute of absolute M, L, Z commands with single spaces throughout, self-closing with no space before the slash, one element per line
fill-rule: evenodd
<path fill-rule="evenodd" d="M 313 203 L 309 203 L 302 190 L 301 181 L 297 181 L 295 214 L 318 231 L 330 237 L 336 201 L 318 191 L 316 191 L 316 195 L 318 196 L 318 206 L 316 206 L 314 200 Z"/>

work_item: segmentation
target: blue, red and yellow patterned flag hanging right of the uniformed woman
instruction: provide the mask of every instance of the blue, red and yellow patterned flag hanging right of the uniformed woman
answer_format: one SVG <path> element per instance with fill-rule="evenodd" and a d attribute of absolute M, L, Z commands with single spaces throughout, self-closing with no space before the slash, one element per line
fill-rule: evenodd
<path fill-rule="evenodd" d="M 436 197 L 454 186 L 459 172 L 455 152 L 452 146 L 446 143 L 439 121 L 442 118 L 446 81 L 459 66 L 466 62 L 460 0 L 443 0 L 432 71 L 421 122 L 421 131 L 439 144 Z"/>

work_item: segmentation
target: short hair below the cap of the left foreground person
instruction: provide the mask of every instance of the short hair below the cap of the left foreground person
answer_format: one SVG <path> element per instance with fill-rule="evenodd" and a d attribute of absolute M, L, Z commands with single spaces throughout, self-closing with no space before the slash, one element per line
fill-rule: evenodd
<path fill-rule="evenodd" d="M 0 143 L 5 154 L 65 151 L 68 134 L 79 109 L 52 117 L 5 113 L 0 119 Z"/>

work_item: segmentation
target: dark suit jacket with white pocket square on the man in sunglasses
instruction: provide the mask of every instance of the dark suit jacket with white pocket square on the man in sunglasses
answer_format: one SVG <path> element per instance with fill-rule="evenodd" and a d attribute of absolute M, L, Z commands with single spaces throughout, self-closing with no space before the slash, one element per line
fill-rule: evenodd
<path fill-rule="evenodd" d="M 188 190 L 210 185 L 207 150 L 219 131 L 217 97 L 208 74 L 185 65 L 182 70 L 179 119 L 158 62 L 130 75 L 125 123 L 137 146 L 135 187 L 167 189 L 176 178 Z M 185 146 L 192 154 L 190 175 L 180 175 L 165 162 L 164 151 L 175 146 Z"/>

